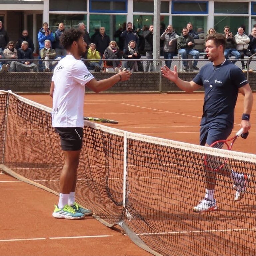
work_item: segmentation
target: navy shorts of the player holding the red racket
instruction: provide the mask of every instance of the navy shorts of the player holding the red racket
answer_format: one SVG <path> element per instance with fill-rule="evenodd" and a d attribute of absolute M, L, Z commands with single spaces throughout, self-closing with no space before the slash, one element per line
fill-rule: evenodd
<path fill-rule="evenodd" d="M 231 127 L 221 123 L 208 123 L 200 128 L 200 145 L 209 146 L 217 140 L 226 140 L 232 132 Z"/>

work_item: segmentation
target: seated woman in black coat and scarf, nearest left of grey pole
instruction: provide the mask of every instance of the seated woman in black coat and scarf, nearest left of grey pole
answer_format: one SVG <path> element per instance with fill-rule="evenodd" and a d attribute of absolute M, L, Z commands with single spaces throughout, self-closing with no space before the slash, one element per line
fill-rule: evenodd
<path fill-rule="evenodd" d="M 125 52 L 123 54 L 123 57 L 128 60 L 139 60 L 141 58 L 140 53 L 137 50 L 137 45 L 135 41 L 130 41 L 128 44 L 128 47 L 125 49 Z M 131 71 L 141 71 L 139 68 L 141 68 L 142 63 L 141 61 L 128 61 L 127 66 L 130 68 Z"/>

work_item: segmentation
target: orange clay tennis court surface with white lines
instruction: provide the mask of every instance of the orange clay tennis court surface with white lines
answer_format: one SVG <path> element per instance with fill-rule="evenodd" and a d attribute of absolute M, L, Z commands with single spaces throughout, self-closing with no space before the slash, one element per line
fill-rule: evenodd
<path fill-rule="evenodd" d="M 52 106 L 48 95 L 23 96 Z M 202 105 L 202 93 L 86 94 L 84 113 L 118 120 L 119 124 L 108 125 L 118 129 L 198 144 Z M 240 128 L 242 111 L 243 96 L 239 94 L 232 135 Z M 249 137 L 239 138 L 233 149 L 255 154 L 255 104 L 250 120 Z M 93 217 L 76 221 L 54 219 L 51 214 L 58 198 L 49 192 L 8 175 L 0 175 L 0 188 L 5 198 L 0 255 L 151 255 L 122 235 L 118 227 L 109 229 Z M 233 206 L 228 210 L 232 211 Z"/>

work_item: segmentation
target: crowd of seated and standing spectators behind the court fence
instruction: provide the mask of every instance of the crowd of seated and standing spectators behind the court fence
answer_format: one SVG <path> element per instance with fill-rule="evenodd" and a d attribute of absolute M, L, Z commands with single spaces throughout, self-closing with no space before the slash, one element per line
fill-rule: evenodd
<path fill-rule="evenodd" d="M 91 71 L 106 71 L 106 66 L 113 67 L 116 72 L 129 69 L 136 71 L 154 71 L 153 59 L 153 34 L 154 26 L 143 26 L 142 29 L 134 30 L 131 22 L 124 23 L 114 37 L 118 41 L 111 41 L 110 36 L 105 33 L 105 28 L 95 29 L 91 36 L 86 30 L 86 25 L 81 22 L 78 29 L 83 31 L 83 38 L 87 45 L 87 51 L 81 59 Z M 60 44 L 60 36 L 65 32 L 63 22 L 59 23 L 58 29 L 52 32 L 47 22 L 44 22 L 38 32 L 37 40 L 39 44 L 39 56 L 45 72 L 52 71 L 57 62 L 66 56 L 66 50 Z M 194 30 L 193 24 L 189 22 L 182 29 L 179 35 L 172 25 L 161 24 L 160 53 L 163 55 L 165 65 L 171 68 L 172 59 L 179 55 L 182 58 L 184 71 L 199 70 L 197 60 L 200 52 L 195 48 L 195 39 L 205 42 L 208 35 L 217 33 L 214 28 L 210 28 L 207 34 L 202 28 Z M 238 28 L 237 33 L 232 33 L 229 26 L 225 26 L 223 34 L 226 37 L 226 48 L 224 55 L 227 59 L 233 56 L 232 62 L 241 60 L 242 69 L 246 69 L 244 56 L 251 57 L 256 52 L 256 27 L 252 28 L 249 35 L 244 31 L 244 27 Z M 0 73 L 27 71 L 39 71 L 40 67 L 33 62 L 35 46 L 33 40 L 24 29 L 20 38 L 15 42 L 9 41 L 8 33 L 3 28 L 0 21 Z M 145 55 L 145 67 L 141 61 L 141 56 Z M 187 59 L 189 55 L 193 57 L 192 67 L 189 66 Z M 205 59 L 207 56 L 205 55 Z M 123 63 L 123 65 L 122 65 Z M 250 61 L 248 61 L 250 65 Z M 251 70 L 251 69 L 249 69 Z"/>

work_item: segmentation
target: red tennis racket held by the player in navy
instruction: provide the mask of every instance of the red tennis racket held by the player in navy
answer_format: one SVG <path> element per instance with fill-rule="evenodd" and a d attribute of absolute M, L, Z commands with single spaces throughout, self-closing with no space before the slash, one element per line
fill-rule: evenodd
<path fill-rule="evenodd" d="M 234 145 L 234 142 L 237 140 L 237 138 L 242 135 L 243 128 L 241 128 L 234 137 L 227 139 L 227 140 L 218 140 L 215 141 L 210 145 L 210 147 L 214 148 L 221 148 L 226 150 L 231 150 L 232 146 Z M 246 134 L 246 133 L 245 133 Z M 243 134 L 243 135 L 245 135 Z M 247 134 L 248 135 L 248 134 Z M 247 137 L 247 136 L 246 136 Z M 243 136 L 245 138 L 245 136 Z M 230 145 L 227 143 L 231 141 Z M 215 156 L 215 155 L 204 155 L 204 164 L 206 167 L 208 167 L 211 171 L 218 171 L 227 163 L 228 158 Z"/>

